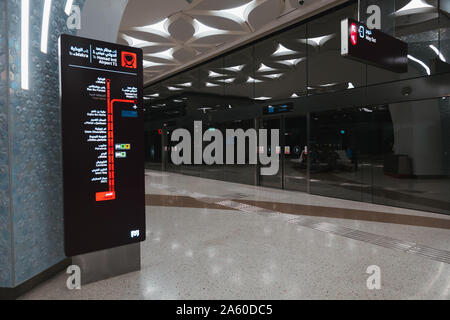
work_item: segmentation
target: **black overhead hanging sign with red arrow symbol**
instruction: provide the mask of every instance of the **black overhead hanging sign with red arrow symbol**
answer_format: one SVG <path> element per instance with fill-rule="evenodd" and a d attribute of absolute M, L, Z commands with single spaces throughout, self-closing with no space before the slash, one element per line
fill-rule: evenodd
<path fill-rule="evenodd" d="M 341 22 L 341 55 L 397 73 L 408 72 L 408 44 L 353 19 Z"/>

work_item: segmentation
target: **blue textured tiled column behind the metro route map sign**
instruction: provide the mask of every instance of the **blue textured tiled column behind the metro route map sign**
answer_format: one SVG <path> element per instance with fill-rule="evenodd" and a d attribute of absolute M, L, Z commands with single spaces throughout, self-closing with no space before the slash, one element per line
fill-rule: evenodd
<path fill-rule="evenodd" d="M 77 30 L 67 28 L 66 1 L 52 1 L 42 53 L 44 0 L 29 3 L 30 88 L 22 90 L 22 2 L 0 0 L 0 287 L 18 286 L 65 258 L 58 38 Z"/>

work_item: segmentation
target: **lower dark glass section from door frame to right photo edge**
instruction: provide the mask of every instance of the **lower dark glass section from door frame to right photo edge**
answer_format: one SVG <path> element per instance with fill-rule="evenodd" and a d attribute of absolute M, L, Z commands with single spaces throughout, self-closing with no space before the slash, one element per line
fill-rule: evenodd
<path fill-rule="evenodd" d="M 311 192 L 450 213 L 448 98 L 311 115 Z"/>

